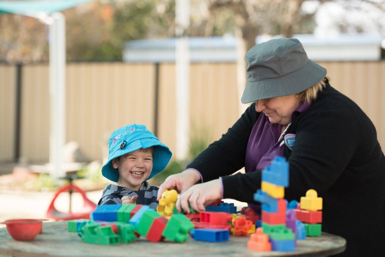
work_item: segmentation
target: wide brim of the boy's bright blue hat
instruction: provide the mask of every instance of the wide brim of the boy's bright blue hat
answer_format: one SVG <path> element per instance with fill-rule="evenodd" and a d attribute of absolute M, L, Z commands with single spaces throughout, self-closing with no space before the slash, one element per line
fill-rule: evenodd
<path fill-rule="evenodd" d="M 155 138 L 146 138 L 145 142 L 139 139 L 132 142 L 130 145 L 127 145 L 123 149 L 118 149 L 112 156 L 108 158 L 107 163 L 105 163 L 105 165 L 102 167 L 102 175 L 111 181 L 117 182 L 119 180 L 119 171 L 112 167 L 112 160 L 138 149 L 145 149 L 151 146 L 155 146 L 155 149 L 154 155 L 152 157 L 152 171 L 150 176 L 147 178 L 147 180 L 149 180 L 164 170 L 164 168 L 166 168 L 172 156 L 170 149 Z"/>

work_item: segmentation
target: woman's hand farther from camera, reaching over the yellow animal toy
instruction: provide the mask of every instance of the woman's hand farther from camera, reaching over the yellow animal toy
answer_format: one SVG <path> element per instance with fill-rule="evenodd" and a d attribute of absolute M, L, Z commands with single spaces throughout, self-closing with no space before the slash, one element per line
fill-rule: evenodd
<path fill-rule="evenodd" d="M 179 193 L 183 193 L 189 189 L 192 185 L 201 180 L 201 175 L 195 170 L 185 170 L 181 173 L 177 173 L 169 176 L 166 180 L 159 186 L 158 197 L 156 200 L 162 196 L 164 190 L 176 189 Z"/>

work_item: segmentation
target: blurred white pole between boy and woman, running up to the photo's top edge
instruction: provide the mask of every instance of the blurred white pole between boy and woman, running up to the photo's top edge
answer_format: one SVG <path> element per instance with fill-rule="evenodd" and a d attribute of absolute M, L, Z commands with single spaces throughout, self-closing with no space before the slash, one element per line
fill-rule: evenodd
<path fill-rule="evenodd" d="M 187 157 L 190 129 L 190 57 L 187 30 L 190 26 L 189 0 L 176 0 L 176 158 Z"/>

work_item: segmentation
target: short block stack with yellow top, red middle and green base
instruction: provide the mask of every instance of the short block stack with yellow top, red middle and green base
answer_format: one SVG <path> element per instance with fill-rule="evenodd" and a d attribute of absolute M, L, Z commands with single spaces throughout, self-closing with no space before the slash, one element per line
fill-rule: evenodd
<path fill-rule="evenodd" d="M 297 220 L 305 225 L 306 236 L 316 237 L 321 235 L 322 222 L 322 198 L 318 197 L 317 192 L 310 189 L 305 197 L 301 197 L 296 212 Z"/>

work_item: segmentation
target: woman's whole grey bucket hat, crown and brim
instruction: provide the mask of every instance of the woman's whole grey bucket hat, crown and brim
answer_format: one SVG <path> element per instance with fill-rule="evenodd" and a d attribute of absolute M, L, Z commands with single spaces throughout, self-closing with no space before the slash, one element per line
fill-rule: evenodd
<path fill-rule="evenodd" d="M 244 57 L 247 84 L 242 103 L 297 94 L 320 82 L 326 69 L 308 58 L 298 39 L 271 39 Z"/>

